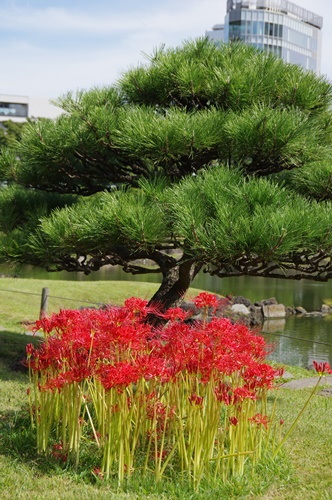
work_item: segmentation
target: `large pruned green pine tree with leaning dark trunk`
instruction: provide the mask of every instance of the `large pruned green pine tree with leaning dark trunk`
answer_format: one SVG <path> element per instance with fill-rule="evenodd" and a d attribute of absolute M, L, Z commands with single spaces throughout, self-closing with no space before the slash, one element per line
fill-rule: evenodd
<path fill-rule="evenodd" d="M 331 98 L 325 78 L 250 46 L 162 48 L 60 98 L 63 115 L 3 152 L 0 256 L 160 273 L 164 309 L 202 269 L 328 280 Z"/>

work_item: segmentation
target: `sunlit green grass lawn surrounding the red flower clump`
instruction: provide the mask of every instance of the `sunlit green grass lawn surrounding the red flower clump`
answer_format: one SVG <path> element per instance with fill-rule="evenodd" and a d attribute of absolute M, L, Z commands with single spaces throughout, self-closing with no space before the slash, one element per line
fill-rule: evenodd
<path fill-rule="evenodd" d="M 193 494 L 176 478 L 154 486 L 148 481 L 117 491 L 102 481 L 92 484 L 86 472 L 76 474 L 60 468 L 54 461 L 38 457 L 34 438 L 23 417 L 27 403 L 27 375 L 11 367 L 24 353 L 28 342 L 22 335 L 26 322 L 38 318 L 43 287 L 49 287 L 49 312 L 75 308 L 87 302 L 123 303 L 124 298 L 149 298 L 157 285 L 131 282 L 56 282 L 44 280 L 0 279 L 0 495 L 2 499 L 322 499 L 332 498 L 332 398 L 314 396 L 284 449 L 282 459 L 263 464 L 256 477 L 244 478 L 218 490 L 202 485 Z M 196 295 L 197 291 L 190 294 Z M 59 299 L 57 297 L 63 297 Z M 70 300 L 67 300 L 70 299 Z M 287 367 L 297 378 L 306 370 Z M 311 374 L 312 375 L 312 374 Z M 303 407 L 310 390 L 278 391 L 278 418 L 285 420 L 285 431 Z M 274 394 L 271 395 L 271 402 Z"/>

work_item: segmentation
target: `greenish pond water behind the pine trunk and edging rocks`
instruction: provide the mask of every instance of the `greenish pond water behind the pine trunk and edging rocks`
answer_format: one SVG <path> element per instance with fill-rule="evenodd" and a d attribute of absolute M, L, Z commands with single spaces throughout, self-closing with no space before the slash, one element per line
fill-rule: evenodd
<path fill-rule="evenodd" d="M 0 273 L 9 274 L 8 269 L 0 268 Z M 82 273 L 47 273 L 30 266 L 21 267 L 17 274 L 22 278 L 62 279 L 82 281 L 136 280 L 159 282 L 158 275 L 132 276 L 118 267 L 105 267 L 98 272 L 85 276 Z M 193 282 L 195 288 L 219 294 L 242 295 L 252 302 L 275 297 L 285 306 L 302 306 L 307 311 L 320 310 L 324 299 L 332 298 L 332 280 L 316 283 L 308 280 L 291 281 L 271 278 L 217 278 L 200 273 Z M 270 320 L 264 323 L 262 333 L 273 342 L 271 359 L 289 365 L 311 367 L 312 361 L 327 361 L 332 364 L 332 316 L 298 317 L 287 320 Z"/>

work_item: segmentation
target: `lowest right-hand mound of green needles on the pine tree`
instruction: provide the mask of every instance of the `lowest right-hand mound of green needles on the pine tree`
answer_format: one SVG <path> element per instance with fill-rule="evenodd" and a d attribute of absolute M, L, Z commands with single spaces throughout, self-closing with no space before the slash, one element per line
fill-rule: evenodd
<path fill-rule="evenodd" d="M 265 178 L 234 182 L 234 171 L 215 168 L 174 188 L 174 223 L 186 251 L 209 261 L 236 261 L 252 253 L 278 261 L 307 248 L 331 248 L 331 205 L 309 202 Z"/>

